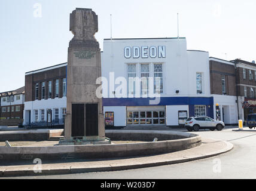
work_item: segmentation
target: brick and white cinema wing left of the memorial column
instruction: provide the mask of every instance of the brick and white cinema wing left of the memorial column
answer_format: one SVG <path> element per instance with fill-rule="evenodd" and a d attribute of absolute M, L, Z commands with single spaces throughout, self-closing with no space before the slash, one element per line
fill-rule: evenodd
<path fill-rule="evenodd" d="M 24 125 L 63 125 L 67 63 L 25 74 Z"/>

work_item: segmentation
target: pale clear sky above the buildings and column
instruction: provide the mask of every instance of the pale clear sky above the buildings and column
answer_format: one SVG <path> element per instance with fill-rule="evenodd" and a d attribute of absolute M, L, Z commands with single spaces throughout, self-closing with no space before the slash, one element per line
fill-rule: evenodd
<path fill-rule="evenodd" d="M 33 5 L 42 5 L 35 18 Z M 0 92 L 25 85 L 25 72 L 67 61 L 69 14 L 76 7 L 92 8 L 99 17 L 96 39 L 187 38 L 188 50 L 210 56 L 256 60 L 255 0 L 0 0 Z M 225 54 L 226 53 L 226 54 Z"/>

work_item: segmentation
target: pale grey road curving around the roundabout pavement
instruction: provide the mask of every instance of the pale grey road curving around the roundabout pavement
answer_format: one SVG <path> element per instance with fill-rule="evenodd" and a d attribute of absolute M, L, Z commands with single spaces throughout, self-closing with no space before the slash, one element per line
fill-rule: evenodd
<path fill-rule="evenodd" d="M 136 170 L 90 172 L 83 174 L 47 175 L 19 178 L 103 178 L 103 179 L 175 179 L 175 178 L 256 178 L 256 131 L 200 130 L 197 134 L 205 138 L 230 141 L 234 148 L 227 153 L 212 158 L 185 162 L 182 164 Z"/>

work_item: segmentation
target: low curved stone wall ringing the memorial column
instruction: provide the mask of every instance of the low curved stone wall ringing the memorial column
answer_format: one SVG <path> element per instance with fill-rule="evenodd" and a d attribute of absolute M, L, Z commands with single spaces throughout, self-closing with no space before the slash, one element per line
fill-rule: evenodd
<path fill-rule="evenodd" d="M 202 144 L 201 136 L 178 131 L 106 130 L 113 140 L 143 140 L 143 143 L 94 144 L 47 147 L 0 147 L 0 162 L 20 159 L 89 159 L 145 156 L 176 152 Z M 159 141 L 153 142 L 154 138 Z"/>

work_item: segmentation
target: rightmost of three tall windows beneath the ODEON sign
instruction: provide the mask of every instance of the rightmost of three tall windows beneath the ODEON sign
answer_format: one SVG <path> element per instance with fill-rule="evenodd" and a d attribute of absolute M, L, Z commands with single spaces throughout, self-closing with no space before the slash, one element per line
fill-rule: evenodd
<path fill-rule="evenodd" d="M 163 93 L 163 64 L 154 64 L 154 93 Z"/>

